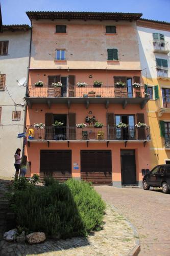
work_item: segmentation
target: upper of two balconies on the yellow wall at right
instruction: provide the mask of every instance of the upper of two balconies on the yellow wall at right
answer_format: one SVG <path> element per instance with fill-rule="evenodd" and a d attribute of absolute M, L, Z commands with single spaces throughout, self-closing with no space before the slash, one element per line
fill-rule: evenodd
<path fill-rule="evenodd" d="M 158 117 L 162 116 L 163 113 L 170 113 L 170 96 L 159 97 L 156 100 Z"/>

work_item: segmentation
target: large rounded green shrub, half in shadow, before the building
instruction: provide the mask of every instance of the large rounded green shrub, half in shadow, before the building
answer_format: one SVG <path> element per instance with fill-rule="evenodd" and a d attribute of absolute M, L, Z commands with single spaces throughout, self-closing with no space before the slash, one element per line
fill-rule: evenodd
<path fill-rule="evenodd" d="M 46 182 L 47 186 L 15 191 L 12 208 L 17 225 L 61 238 L 87 236 L 101 228 L 105 204 L 89 184 L 72 179 Z"/>

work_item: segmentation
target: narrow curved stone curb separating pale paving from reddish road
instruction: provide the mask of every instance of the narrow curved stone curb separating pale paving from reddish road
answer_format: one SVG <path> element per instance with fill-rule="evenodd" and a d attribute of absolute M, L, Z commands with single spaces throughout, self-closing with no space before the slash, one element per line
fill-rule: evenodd
<path fill-rule="evenodd" d="M 114 205 L 110 205 L 115 211 L 117 211 L 119 214 L 121 214 L 119 212 L 119 210 L 114 206 Z M 124 217 L 124 216 L 123 216 Z M 125 217 L 124 217 L 125 218 Z M 136 228 L 134 227 L 134 225 L 125 218 L 127 224 L 130 226 L 130 228 L 133 230 L 134 232 L 134 237 L 135 237 L 135 246 L 131 249 L 131 251 L 127 254 L 127 256 L 137 256 L 140 252 L 140 241 L 138 239 L 138 232 L 136 230 Z"/>

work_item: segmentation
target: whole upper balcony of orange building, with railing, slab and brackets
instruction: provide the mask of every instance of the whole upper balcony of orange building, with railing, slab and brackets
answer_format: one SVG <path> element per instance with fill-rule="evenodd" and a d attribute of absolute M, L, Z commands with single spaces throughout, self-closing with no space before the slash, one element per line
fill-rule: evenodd
<path fill-rule="evenodd" d="M 144 95 L 144 87 L 120 88 L 115 86 L 101 86 L 100 88 L 93 86 L 62 86 L 61 88 L 31 86 L 26 97 L 30 108 L 34 103 L 47 103 L 49 108 L 53 103 L 66 103 L 68 108 L 71 103 L 84 103 L 86 108 L 89 103 L 104 103 L 106 108 L 109 103 L 114 103 L 122 104 L 123 108 L 127 104 L 140 104 L 142 109 L 148 100 L 149 98 L 145 98 Z"/>

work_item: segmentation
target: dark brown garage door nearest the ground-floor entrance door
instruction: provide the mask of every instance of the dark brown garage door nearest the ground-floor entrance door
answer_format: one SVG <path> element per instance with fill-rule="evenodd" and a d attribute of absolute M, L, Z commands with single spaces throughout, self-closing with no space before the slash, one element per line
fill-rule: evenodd
<path fill-rule="evenodd" d="M 82 150 L 81 179 L 96 185 L 112 185 L 111 151 Z"/>

